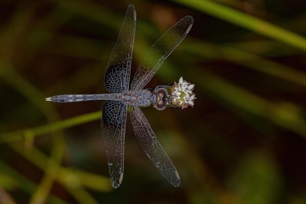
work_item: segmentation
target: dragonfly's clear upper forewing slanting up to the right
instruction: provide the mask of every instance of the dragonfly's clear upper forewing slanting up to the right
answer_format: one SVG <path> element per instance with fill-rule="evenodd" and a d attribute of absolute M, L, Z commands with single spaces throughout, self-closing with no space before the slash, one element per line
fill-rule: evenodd
<path fill-rule="evenodd" d="M 146 86 L 166 58 L 188 34 L 193 23 L 192 16 L 185 16 L 152 45 L 136 70 L 131 83 L 132 91 L 141 90 Z"/>

